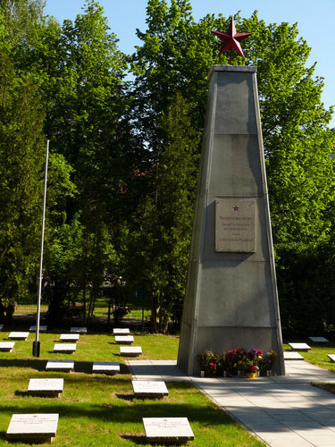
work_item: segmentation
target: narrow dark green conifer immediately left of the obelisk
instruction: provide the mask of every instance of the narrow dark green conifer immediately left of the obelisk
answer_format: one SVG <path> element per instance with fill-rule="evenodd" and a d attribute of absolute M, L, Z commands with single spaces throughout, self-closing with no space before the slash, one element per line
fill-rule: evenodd
<path fill-rule="evenodd" d="M 152 297 L 155 332 L 167 333 L 169 321 L 180 318 L 197 184 L 199 133 L 188 116 L 189 106 L 177 95 L 161 117 L 163 149 L 146 175 L 152 190 L 135 215 L 131 232 L 129 280 Z M 158 318 L 158 323 L 157 323 Z"/>

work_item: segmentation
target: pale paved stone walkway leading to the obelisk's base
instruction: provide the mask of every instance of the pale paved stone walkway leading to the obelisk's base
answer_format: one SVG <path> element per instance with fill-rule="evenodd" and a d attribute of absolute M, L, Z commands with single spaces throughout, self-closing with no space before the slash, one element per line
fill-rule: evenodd
<path fill-rule="evenodd" d="M 129 360 L 137 380 L 187 380 L 272 447 L 334 447 L 335 395 L 311 382 L 335 375 L 304 361 L 286 361 L 287 375 L 256 379 L 184 375 L 173 360 Z"/>

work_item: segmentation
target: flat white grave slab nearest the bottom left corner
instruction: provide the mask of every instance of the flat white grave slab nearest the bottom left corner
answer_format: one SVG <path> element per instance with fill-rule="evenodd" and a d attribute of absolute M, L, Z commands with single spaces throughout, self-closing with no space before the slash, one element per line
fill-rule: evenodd
<path fill-rule="evenodd" d="M 7 438 L 51 443 L 57 431 L 59 415 L 14 414 L 7 429 Z"/>

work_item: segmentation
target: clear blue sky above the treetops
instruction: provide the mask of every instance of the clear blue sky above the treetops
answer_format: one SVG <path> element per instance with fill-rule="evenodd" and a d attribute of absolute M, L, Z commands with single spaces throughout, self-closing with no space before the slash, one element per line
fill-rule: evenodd
<path fill-rule="evenodd" d="M 198 20 L 206 13 L 222 13 L 229 17 L 241 11 L 249 17 L 255 10 L 259 19 L 266 23 L 298 23 L 299 35 L 312 47 L 308 65 L 317 63 L 315 75 L 322 76 L 325 86 L 322 101 L 326 107 L 335 105 L 335 58 L 333 50 L 335 0 L 190 0 L 193 17 Z M 85 0 L 47 0 L 46 13 L 63 23 L 82 13 Z M 138 45 L 135 31 L 146 30 L 147 0 L 100 0 L 105 9 L 109 26 L 119 38 L 119 48 L 124 53 L 133 53 Z M 250 30 L 252 31 L 252 30 Z M 335 127 L 335 118 L 331 122 Z"/>

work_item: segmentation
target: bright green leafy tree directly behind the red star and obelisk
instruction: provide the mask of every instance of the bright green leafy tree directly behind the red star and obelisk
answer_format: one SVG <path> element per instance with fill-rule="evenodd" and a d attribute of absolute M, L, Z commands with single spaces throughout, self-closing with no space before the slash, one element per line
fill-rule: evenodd
<path fill-rule="evenodd" d="M 257 66 L 279 291 L 281 303 L 289 306 L 285 282 L 294 270 L 292 259 L 308 257 L 332 233 L 332 109 L 321 102 L 323 80 L 314 78 L 314 66 L 306 67 L 310 48 L 298 37 L 297 24 L 266 25 L 256 12 L 248 19 L 234 18 L 239 32 L 253 33 L 243 42 L 246 59 L 233 55 L 232 63 Z M 220 42 L 210 31 L 228 25 L 221 14 L 194 21 L 186 0 L 148 1 L 147 30 L 138 30 L 142 45 L 132 57 L 133 121 L 148 164 L 155 165 L 163 150 L 159 119 L 176 92 L 192 104 L 194 129 L 203 129 L 207 72 L 229 57 L 217 58 Z"/>

